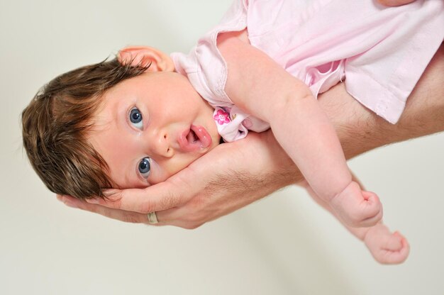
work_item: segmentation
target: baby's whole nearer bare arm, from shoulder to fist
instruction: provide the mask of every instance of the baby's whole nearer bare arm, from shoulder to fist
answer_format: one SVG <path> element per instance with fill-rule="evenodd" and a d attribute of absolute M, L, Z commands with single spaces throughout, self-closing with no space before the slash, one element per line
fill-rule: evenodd
<path fill-rule="evenodd" d="M 236 33 L 220 35 L 218 48 L 228 64 L 226 92 L 233 102 L 270 123 L 313 191 L 345 223 L 376 224 L 382 218 L 379 200 L 352 181 L 333 125 L 310 89 Z"/>

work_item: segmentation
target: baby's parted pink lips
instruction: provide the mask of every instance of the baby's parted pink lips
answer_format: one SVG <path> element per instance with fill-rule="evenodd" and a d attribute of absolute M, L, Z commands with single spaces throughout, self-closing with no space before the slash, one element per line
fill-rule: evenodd
<path fill-rule="evenodd" d="M 178 142 L 184 152 L 194 152 L 209 147 L 212 140 L 204 127 L 192 125 L 179 135 Z"/>

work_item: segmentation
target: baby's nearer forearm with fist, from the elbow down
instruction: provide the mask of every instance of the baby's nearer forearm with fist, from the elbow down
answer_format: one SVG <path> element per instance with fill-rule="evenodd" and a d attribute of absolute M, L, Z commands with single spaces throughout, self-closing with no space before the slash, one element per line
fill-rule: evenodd
<path fill-rule="evenodd" d="M 313 191 L 344 223 L 362 227 L 374 226 L 381 220 L 378 197 L 353 182 L 338 136 L 313 96 L 286 101 L 270 125 Z"/>

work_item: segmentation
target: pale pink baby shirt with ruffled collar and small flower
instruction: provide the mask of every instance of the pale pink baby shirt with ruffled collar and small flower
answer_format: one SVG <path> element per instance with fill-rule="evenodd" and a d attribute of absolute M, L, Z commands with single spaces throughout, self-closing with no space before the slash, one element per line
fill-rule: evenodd
<path fill-rule="evenodd" d="M 171 55 L 177 72 L 215 108 L 226 141 L 269 128 L 237 108 L 224 91 L 227 67 L 216 39 L 244 28 L 252 46 L 305 82 L 314 96 L 345 80 L 349 94 L 396 123 L 443 42 L 444 1 L 386 7 L 374 0 L 235 0 L 188 55 Z"/>

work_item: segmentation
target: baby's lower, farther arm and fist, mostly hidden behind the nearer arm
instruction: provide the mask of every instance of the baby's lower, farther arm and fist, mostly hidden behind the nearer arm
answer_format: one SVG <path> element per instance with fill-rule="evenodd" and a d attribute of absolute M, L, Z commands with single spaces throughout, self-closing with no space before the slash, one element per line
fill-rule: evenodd
<path fill-rule="evenodd" d="M 359 184 L 355 177 L 353 177 L 353 180 Z M 326 208 L 327 211 L 338 218 L 331 206 L 319 198 L 307 182 L 302 182 L 299 185 L 306 189 L 316 203 Z M 340 218 L 338 218 L 338 220 L 340 221 Z M 374 259 L 379 263 L 397 264 L 404 262 L 409 256 L 409 243 L 407 243 L 406 238 L 398 232 L 390 233 L 389 228 L 384 226 L 382 221 L 379 221 L 379 223 L 370 228 L 351 228 L 346 225 L 345 228 L 365 243 Z"/>

